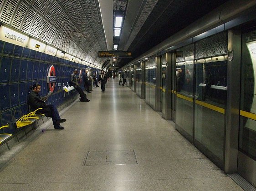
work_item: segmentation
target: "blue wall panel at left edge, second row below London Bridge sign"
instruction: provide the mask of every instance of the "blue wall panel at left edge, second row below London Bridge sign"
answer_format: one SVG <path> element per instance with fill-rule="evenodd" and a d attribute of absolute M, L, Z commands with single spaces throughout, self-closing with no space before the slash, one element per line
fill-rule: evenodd
<path fill-rule="evenodd" d="M 11 58 L 1 58 L 0 83 L 10 82 L 10 64 Z"/>

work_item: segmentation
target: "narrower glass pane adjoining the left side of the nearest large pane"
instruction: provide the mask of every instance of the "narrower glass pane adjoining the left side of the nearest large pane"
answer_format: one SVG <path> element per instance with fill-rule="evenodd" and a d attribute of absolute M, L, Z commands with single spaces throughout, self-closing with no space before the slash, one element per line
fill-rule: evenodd
<path fill-rule="evenodd" d="M 176 51 L 176 125 L 190 139 L 193 139 L 193 60 L 193 44 Z"/>

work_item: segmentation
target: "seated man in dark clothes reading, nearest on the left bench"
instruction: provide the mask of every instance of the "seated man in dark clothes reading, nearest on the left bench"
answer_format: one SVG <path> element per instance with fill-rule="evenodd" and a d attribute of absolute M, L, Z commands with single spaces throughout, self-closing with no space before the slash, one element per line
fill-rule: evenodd
<path fill-rule="evenodd" d="M 64 129 L 60 125 L 61 122 L 67 121 L 66 119 L 61 119 L 59 112 L 55 105 L 47 105 L 44 101 L 41 100 L 39 92 L 41 90 L 41 85 L 39 83 L 35 83 L 31 87 L 31 93 L 28 95 L 28 104 L 31 109 L 35 111 L 38 108 L 43 108 L 38 110 L 36 113 L 45 114 L 46 117 L 50 117 L 52 119 L 53 125 L 55 129 Z"/>

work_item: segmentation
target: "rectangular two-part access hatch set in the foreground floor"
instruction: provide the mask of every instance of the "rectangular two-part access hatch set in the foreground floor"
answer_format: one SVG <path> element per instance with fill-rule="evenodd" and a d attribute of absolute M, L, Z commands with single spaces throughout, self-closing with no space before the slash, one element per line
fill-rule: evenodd
<path fill-rule="evenodd" d="M 83 166 L 138 164 L 134 150 L 88 151 Z"/>

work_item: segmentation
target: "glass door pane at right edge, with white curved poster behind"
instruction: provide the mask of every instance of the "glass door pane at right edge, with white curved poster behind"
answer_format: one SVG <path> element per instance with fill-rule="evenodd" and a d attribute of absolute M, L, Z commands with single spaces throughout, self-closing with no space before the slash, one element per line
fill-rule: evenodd
<path fill-rule="evenodd" d="M 256 160 L 256 30 L 242 34 L 239 150 Z"/>

